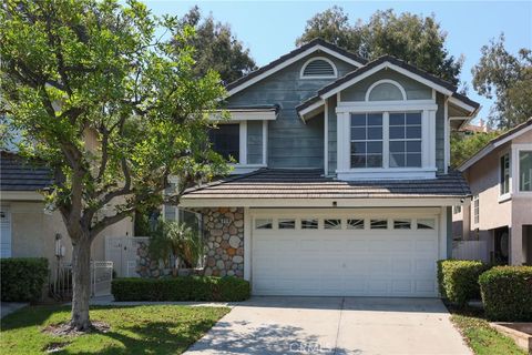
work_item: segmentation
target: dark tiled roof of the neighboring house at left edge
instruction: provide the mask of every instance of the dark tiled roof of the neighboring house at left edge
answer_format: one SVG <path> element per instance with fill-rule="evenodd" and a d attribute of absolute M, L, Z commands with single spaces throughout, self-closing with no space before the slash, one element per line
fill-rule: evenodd
<path fill-rule="evenodd" d="M 0 191 L 37 191 L 51 183 L 51 172 L 44 165 L 30 163 L 14 153 L 1 152 Z"/>

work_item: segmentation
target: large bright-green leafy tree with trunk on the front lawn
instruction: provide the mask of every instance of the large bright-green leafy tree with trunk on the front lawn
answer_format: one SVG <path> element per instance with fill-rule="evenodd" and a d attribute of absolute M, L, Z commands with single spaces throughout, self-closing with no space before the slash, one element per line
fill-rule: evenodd
<path fill-rule="evenodd" d="M 193 29 L 136 0 L 6 0 L 0 20 L 0 114 L 20 132 L 20 151 L 53 172 L 43 193 L 73 245 L 70 326 L 86 331 L 94 239 L 161 205 L 168 175 L 180 179 L 165 196 L 176 203 L 226 171 L 206 143 L 225 91 L 213 71 L 197 78 L 192 47 L 154 36 L 163 28 L 187 43 Z"/>

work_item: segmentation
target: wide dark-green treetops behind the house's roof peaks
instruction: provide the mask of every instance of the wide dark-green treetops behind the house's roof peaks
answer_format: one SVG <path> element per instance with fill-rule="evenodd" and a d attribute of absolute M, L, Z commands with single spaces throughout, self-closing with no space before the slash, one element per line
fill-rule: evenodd
<path fill-rule="evenodd" d="M 359 19 L 350 24 L 344 9 L 335 6 L 308 20 L 296 44 L 323 38 L 370 60 L 390 54 L 458 84 L 463 59 L 449 55 L 446 37 L 433 16 L 397 16 L 390 9 L 375 12 L 367 23 Z"/>

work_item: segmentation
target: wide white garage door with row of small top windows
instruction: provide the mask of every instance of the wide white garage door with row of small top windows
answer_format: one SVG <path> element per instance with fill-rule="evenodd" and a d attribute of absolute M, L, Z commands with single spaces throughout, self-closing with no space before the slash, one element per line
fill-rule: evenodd
<path fill-rule="evenodd" d="M 437 215 L 254 217 L 255 295 L 437 296 Z"/>

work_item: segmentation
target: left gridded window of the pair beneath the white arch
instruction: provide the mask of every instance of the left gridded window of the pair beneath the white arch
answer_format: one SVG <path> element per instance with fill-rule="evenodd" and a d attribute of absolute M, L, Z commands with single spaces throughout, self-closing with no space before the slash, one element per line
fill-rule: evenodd
<path fill-rule="evenodd" d="M 351 114 L 351 168 L 382 168 L 382 113 Z"/>

